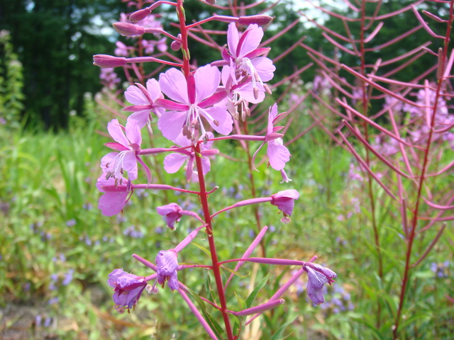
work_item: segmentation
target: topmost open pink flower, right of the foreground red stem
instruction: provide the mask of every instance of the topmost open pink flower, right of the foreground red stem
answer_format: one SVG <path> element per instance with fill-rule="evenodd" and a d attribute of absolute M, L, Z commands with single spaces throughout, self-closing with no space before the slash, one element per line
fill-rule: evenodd
<path fill-rule="evenodd" d="M 236 83 L 241 77 L 249 75 L 254 91 L 258 91 L 258 84 L 263 86 L 263 82 L 271 80 L 276 69 L 272 60 L 260 57 L 270 50 L 258 48 L 262 38 L 263 29 L 256 24 L 249 25 L 240 37 L 235 23 L 230 23 L 227 31 L 228 52 L 222 52 L 223 59 L 230 65 L 233 81 Z"/>

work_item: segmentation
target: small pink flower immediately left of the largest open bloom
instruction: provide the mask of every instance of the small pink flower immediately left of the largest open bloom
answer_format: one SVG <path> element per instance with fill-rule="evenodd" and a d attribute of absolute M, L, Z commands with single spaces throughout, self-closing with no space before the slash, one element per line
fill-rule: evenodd
<path fill-rule="evenodd" d="M 135 111 L 128 117 L 128 122 L 134 120 L 140 129 L 152 120 L 151 112 L 155 113 L 157 117 L 164 113 L 164 109 L 153 106 L 157 99 L 164 98 L 159 83 L 156 79 L 149 79 L 146 86 L 145 89 L 141 84 L 131 85 L 125 91 L 126 100 L 134 104 L 134 106 L 128 106 L 125 110 Z"/>

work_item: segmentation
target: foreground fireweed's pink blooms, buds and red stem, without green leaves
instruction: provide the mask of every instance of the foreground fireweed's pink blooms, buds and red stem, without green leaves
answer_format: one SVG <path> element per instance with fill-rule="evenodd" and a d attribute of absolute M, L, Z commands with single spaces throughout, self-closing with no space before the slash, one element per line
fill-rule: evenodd
<path fill-rule="evenodd" d="M 147 8 L 140 8 L 132 13 L 129 19 L 122 16 L 121 22 L 114 24 L 114 28 L 121 35 L 134 39 L 140 37 L 135 39 L 137 44 L 141 44 L 138 50 L 136 47 L 126 46 L 123 42 L 116 42 L 115 54 L 117 57 L 94 56 L 94 64 L 99 67 L 110 70 L 111 67 L 123 67 L 126 72 L 130 72 L 132 69 L 137 76 L 137 81 L 131 81 L 131 86 L 124 93 L 126 101 L 131 104 L 131 106 L 124 108 L 124 111 L 131 113 L 126 124 L 123 125 L 118 119 L 114 119 L 107 125 L 109 135 L 114 141 L 107 142 L 105 145 L 114 151 L 109 152 L 101 159 L 102 174 L 96 186 L 103 194 L 99 199 L 98 208 L 106 216 L 117 215 L 123 210 L 135 190 L 140 193 L 141 197 L 143 197 L 143 191 L 148 189 L 172 190 L 175 193 L 198 196 L 201 209 L 199 210 L 199 207 L 194 204 L 185 204 L 182 205 L 184 207 L 182 208 L 177 203 L 157 207 L 157 214 L 163 217 L 168 229 L 174 230 L 177 222 L 183 217 L 192 218 L 198 221 L 200 225 L 196 229 L 189 230 L 187 237 L 184 237 L 177 246 L 158 251 L 155 256 L 155 263 L 151 263 L 138 255 L 133 255 L 135 259 L 154 272 L 150 276 L 136 276 L 117 268 L 109 275 L 108 283 L 111 288 L 114 288 L 113 298 L 118 312 L 125 310 L 129 312 L 133 309 L 137 305 L 143 290 L 148 293 L 158 293 L 157 285 L 165 288 L 167 283 L 170 290 L 177 291 L 187 302 L 189 308 L 211 338 L 217 339 L 204 317 L 201 316 L 199 310 L 187 296 L 188 288 L 178 279 L 178 271 L 185 268 L 199 266 L 209 269 L 213 271 L 218 288 L 219 303 L 221 304 L 221 306 L 214 304 L 214 307 L 221 310 L 226 333 L 228 339 L 231 340 L 233 334 L 227 321 L 228 314 L 236 316 L 254 314 L 257 317 L 262 312 L 277 307 L 284 302 L 279 298 L 282 293 L 303 273 L 306 273 L 309 278 L 307 284 L 309 297 L 315 303 L 321 303 L 324 301 L 323 285 L 333 283 L 336 273 L 313 263 L 316 259 L 315 256 L 308 262 L 268 259 L 266 257 L 251 258 L 250 255 L 262 241 L 267 227 L 260 229 L 257 236 L 255 236 L 255 233 L 251 235 L 251 237 L 255 237 L 253 243 L 240 259 L 223 262 L 218 260 L 214 246 L 215 229 L 213 226 L 216 215 L 245 205 L 271 203 L 282 212 L 281 221 L 289 223 L 289 217 L 294 211 L 294 200 L 299 198 L 298 191 L 294 189 L 282 190 L 272 195 L 267 192 L 265 197 L 254 196 L 250 199 L 240 200 L 234 205 L 209 214 L 208 196 L 216 191 L 218 186 L 215 186 L 211 191 L 206 191 L 205 177 L 211 170 L 211 160 L 220 154 L 217 143 L 221 140 L 238 141 L 241 145 L 245 145 L 246 142 L 260 142 L 261 144 L 253 157 L 249 157 L 251 169 L 255 169 L 255 159 L 258 157 L 260 149 L 266 144 L 268 165 L 280 172 L 283 179 L 282 183 L 292 181 L 284 171 L 284 167 L 291 156 L 289 149 L 284 145 L 284 134 L 279 133 L 284 127 L 275 126 L 283 118 L 282 114 L 279 115 L 277 104 L 275 103 L 267 110 L 267 128 L 264 135 L 249 135 L 247 129 L 242 131 L 239 128 L 240 123 L 247 124 L 246 120 L 251 114 L 250 105 L 262 103 L 265 100 L 265 94 L 271 93 L 267 81 L 274 77 L 275 66 L 272 60 L 266 57 L 270 49 L 261 47 L 264 32 L 263 28 L 260 27 L 270 23 L 271 18 L 260 15 L 241 16 L 239 18 L 213 16 L 207 19 L 228 23 L 227 43 L 221 50 L 220 60 L 195 67 L 189 64 L 187 36 L 191 28 L 201 25 L 203 22 L 187 26 L 184 23 L 182 1 L 178 0 L 177 3 L 165 1 L 167 5 L 177 8 L 181 34 L 175 37 L 163 30 L 160 23 L 155 20 L 155 16 L 151 14 L 151 11 L 159 6 L 160 2 L 157 1 Z M 145 51 L 145 54 L 150 54 L 155 52 L 155 47 L 160 52 L 165 52 L 167 48 L 163 45 L 160 46 L 161 40 L 155 42 L 145 40 L 145 38 L 142 38 L 145 34 L 164 35 L 172 39 L 172 50 L 182 50 L 182 62 L 158 60 L 157 55 L 153 57 L 139 55 L 136 57 L 136 51 Z M 136 65 L 143 62 L 159 62 L 170 66 L 170 68 L 159 74 L 159 77 L 145 77 L 140 74 L 139 67 Z M 132 79 L 131 74 L 127 74 L 127 78 Z M 145 148 L 142 139 L 142 130 L 145 128 L 150 132 L 150 137 L 154 135 L 153 130 L 157 128 L 160 134 L 174 145 L 172 147 Z M 214 147 L 215 144 L 216 148 Z M 186 181 L 196 183 L 199 190 L 189 191 L 186 188 L 175 188 L 164 183 L 156 183 L 155 177 L 152 176 L 153 167 L 150 169 L 145 158 L 148 155 L 155 154 L 165 154 L 162 166 L 168 174 L 176 174 L 179 169 L 184 167 Z M 142 171 L 145 176 L 140 174 Z M 146 177 L 146 183 L 138 183 L 141 177 Z M 203 211 L 204 218 L 201 218 L 195 211 Z M 163 229 L 165 228 L 157 227 L 155 231 L 162 233 L 164 232 Z M 202 229 L 209 242 L 211 264 L 206 266 L 180 265 L 178 263 L 179 252 L 183 251 Z M 143 237 L 143 233 L 133 226 L 125 229 L 124 234 L 129 237 Z M 234 312 L 226 308 L 225 297 L 227 285 L 232 277 L 224 286 L 220 273 L 221 265 L 233 261 L 238 262 L 235 271 L 238 271 L 246 261 L 298 266 L 300 269 L 268 302 Z M 154 280 L 154 283 L 149 284 L 148 282 L 152 280 Z"/>

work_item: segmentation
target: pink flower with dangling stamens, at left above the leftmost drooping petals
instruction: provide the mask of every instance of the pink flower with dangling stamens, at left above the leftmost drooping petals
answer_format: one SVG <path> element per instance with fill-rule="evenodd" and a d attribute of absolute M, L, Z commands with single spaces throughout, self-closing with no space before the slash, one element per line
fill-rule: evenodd
<path fill-rule="evenodd" d="M 134 181 L 138 177 L 137 162 L 139 162 L 143 166 L 143 169 L 145 169 L 148 182 L 150 182 L 150 169 L 138 157 L 142 135 L 140 135 L 140 128 L 135 121 L 128 121 L 126 128 L 123 128 L 117 119 L 113 119 L 107 125 L 107 130 L 109 130 L 109 134 L 116 142 L 106 143 L 106 147 L 110 147 L 119 153 L 111 152 L 101 159 L 101 168 L 103 168 L 103 172 L 106 174 L 106 179 L 113 177 L 119 181 L 123 178 L 123 172 L 127 171 L 129 180 Z"/>

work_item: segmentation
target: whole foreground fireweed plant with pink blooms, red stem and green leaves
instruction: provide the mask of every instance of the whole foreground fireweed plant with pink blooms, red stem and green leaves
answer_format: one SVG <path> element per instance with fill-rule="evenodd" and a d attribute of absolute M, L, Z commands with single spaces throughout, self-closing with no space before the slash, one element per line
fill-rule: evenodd
<path fill-rule="evenodd" d="M 177 35 L 163 30 L 152 13 L 162 4 L 177 11 Z M 133 254 L 134 259 L 145 268 L 127 268 L 126 271 L 123 268 L 113 268 L 108 283 L 114 288 L 115 309 L 118 312 L 140 309 L 140 299 L 145 298 L 144 290 L 159 296 L 160 289 L 168 288 L 178 293 L 170 298 L 181 297 L 211 339 L 233 340 L 239 339 L 245 327 L 260 314 L 282 305 L 282 295 L 304 273 L 307 274 L 309 299 L 314 305 L 324 302 L 323 288 L 334 282 L 336 273 L 314 263 L 316 256 L 309 257 L 307 261 L 266 256 L 264 237 L 268 227 L 262 225 L 258 206 L 268 205 L 270 208 L 270 205 L 275 205 L 275 211 L 282 213 L 281 221 L 287 224 L 292 222 L 290 217 L 294 212 L 294 201 L 299 198 L 299 192 L 292 188 L 292 183 L 289 183 L 292 180 L 284 170 L 291 157 L 284 144 L 286 128 L 277 126 L 291 111 L 279 114 L 277 103 L 270 100 L 270 106 L 265 104 L 265 95 L 271 95 L 275 87 L 269 83 L 274 77 L 275 62 L 267 57 L 270 48 L 262 46 L 264 26 L 272 18 L 263 14 L 238 16 L 236 10 L 244 13 L 246 7 L 237 6 L 233 8 L 232 16 L 214 15 L 188 24 L 182 0 L 157 1 L 148 7 L 141 2 L 137 5 L 138 11 L 122 16 L 121 22 L 114 24 L 118 33 L 131 37 L 131 41 L 137 42 L 137 45 L 128 47 L 123 42 L 117 42 L 116 57 L 94 56 L 94 64 L 101 69 L 109 69 L 109 76 L 108 73 L 103 73 L 104 81 L 113 84 L 116 77 L 111 69 L 123 67 L 127 79 L 132 83 L 125 92 L 126 101 L 131 105 L 124 106 L 124 111 L 131 114 L 123 118 L 125 123 L 115 118 L 107 127 L 114 142 L 107 142 L 106 147 L 114 152 L 101 159 L 102 173 L 97 188 L 102 196 L 98 208 L 106 216 L 121 213 L 127 215 L 128 202 L 138 189 L 174 191 L 193 196 L 194 201 L 199 203 L 199 209 L 181 208 L 172 202 L 153 207 L 155 213 L 165 219 L 168 227 L 165 232 L 172 232 L 182 218 L 193 219 L 198 227 L 190 230 L 186 237 L 175 244 L 162 244 L 163 249 L 157 254 Z M 209 4 L 206 6 L 210 10 Z M 215 8 L 216 6 L 214 5 Z M 226 45 L 219 46 L 214 40 L 203 39 L 206 48 L 218 50 L 219 59 L 197 67 L 190 58 L 188 38 L 196 32 L 203 33 L 204 23 L 208 21 L 219 21 L 226 26 Z M 145 39 L 145 35 L 149 34 L 155 37 L 158 35 L 157 40 Z M 177 56 L 167 53 L 167 45 L 162 45 L 162 39 L 170 40 L 172 50 L 179 52 Z M 153 55 L 155 52 L 159 55 Z M 148 62 L 162 67 L 157 67 L 156 72 L 144 74 L 143 65 Z M 157 74 L 163 67 L 167 69 Z M 262 129 L 263 126 L 265 129 Z M 148 131 L 152 143 L 149 148 L 142 138 L 144 130 Z M 157 134 L 165 137 L 173 146 L 157 147 L 154 142 Z M 211 183 L 211 162 L 216 162 L 216 157 L 221 157 L 221 154 L 224 159 L 231 159 L 223 154 L 223 143 L 226 142 L 237 143 L 247 155 L 250 198 L 239 198 L 233 205 L 215 207 L 209 197 L 218 195 L 221 192 L 218 189 L 223 183 L 214 183 L 211 189 L 207 187 L 207 183 Z M 266 156 L 260 152 L 262 147 L 266 147 Z M 148 157 L 155 157 L 153 159 L 156 160 L 156 156 L 160 154 L 165 155 L 163 164 L 153 162 L 149 166 Z M 265 159 L 282 176 L 282 190 L 261 197 L 258 195 L 253 177 L 255 171 L 260 169 L 259 158 Z M 182 167 L 184 171 L 180 171 Z M 158 168 L 184 178 L 196 189 L 162 183 Z M 141 179 L 146 181 L 142 182 Z M 220 243 L 217 239 L 218 215 L 245 206 L 253 208 L 258 234 L 247 249 L 238 249 L 240 254 L 233 259 L 225 259 L 221 256 L 225 253 L 219 251 L 218 247 L 229 240 L 224 239 Z M 196 237 L 206 243 L 204 249 L 209 254 L 209 262 L 201 263 L 201 259 L 193 259 L 192 263 L 179 263 L 182 257 L 180 253 L 187 251 L 187 246 Z M 259 257 L 251 257 L 258 247 Z M 240 267 L 245 262 L 293 266 L 297 270 L 266 302 L 253 303 L 258 290 L 265 285 L 265 280 L 249 297 L 237 295 L 237 303 L 233 303 L 235 299 L 231 296 L 233 292 L 228 289 L 228 285 L 236 277 L 243 277 Z M 231 268 L 228 263 L 236 263 L 236 267 Z M 195 293 L 189 287 L 191 280 L 188 280 L 188 274 L 179 274 L 189 269 L 192 273 L 208 271 L 208 276 L 214 278 L 216 288 L 210 288 L 206 293 Z M 143 276 L 129 273 L 132 270 Z M 226 273 L 230 273 L 228 278 L 225 277 Z"/>

